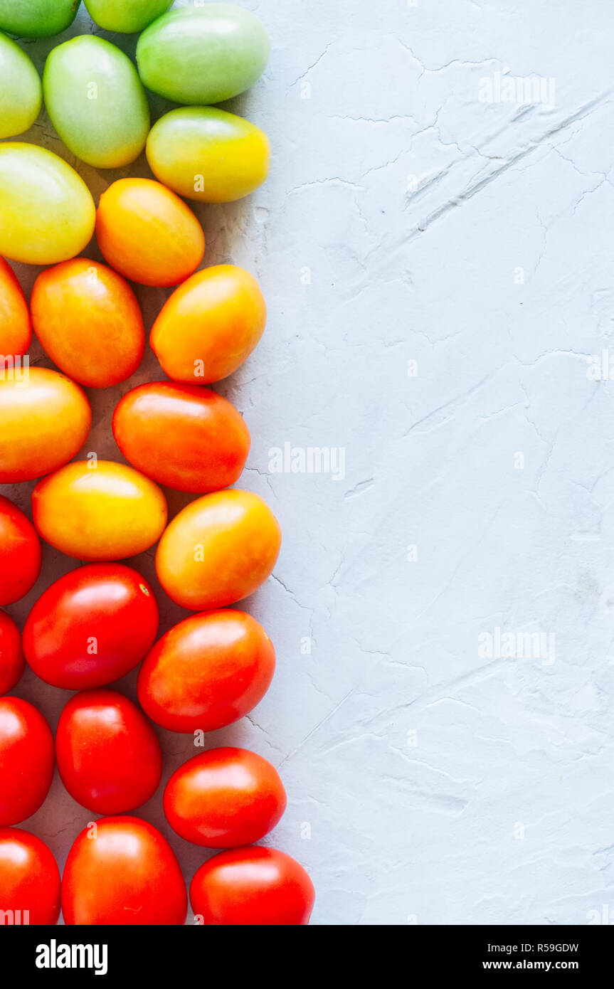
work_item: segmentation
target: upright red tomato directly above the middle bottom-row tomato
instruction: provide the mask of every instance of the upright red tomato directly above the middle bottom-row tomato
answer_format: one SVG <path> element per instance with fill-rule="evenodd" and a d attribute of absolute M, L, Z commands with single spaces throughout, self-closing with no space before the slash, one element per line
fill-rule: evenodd
<path fill-rule="evenodd" d="M 162 776 L 160 743 L 132 700 L 84 690 L 64 707 L 55 733 L 62 782 L 97 814 L 122 814 L 153 796 Z"/>

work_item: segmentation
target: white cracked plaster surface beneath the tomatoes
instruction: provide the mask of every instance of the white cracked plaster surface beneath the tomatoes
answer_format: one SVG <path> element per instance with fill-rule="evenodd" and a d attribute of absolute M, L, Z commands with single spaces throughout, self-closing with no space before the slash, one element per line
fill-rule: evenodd
<path fill-rule="evenodd" d="M 219 390 L 252 434 L 241 484 L 284 546 L 247 602 L 276 678 L 211 744 L 280 768 L 289 807 L 266 843 L 307 866 L 313 924 L 585 924 L 614 909 L 614 406 L 587 376 L 590 355 L 614 358 L 611 4 L 244 6 L 273 52 L 230 109 L 270 135 L 272 171 L 197 212 L 206 263 L 244 265 L 268 301 Z M 82 12 L 59 40 L 91 30 Z M 54 44 L 27 49 L 42 66 Z M 555 105 L 482 102 L 497 72 L 554 80 Z M 95 197 L 125 174 L 78 163 L 44 117 L 25 139 Z M 129 173 L 150 174 L 144 157 Z M 148 325 L 166 295 L 138 290 Z M 159 377 L 148 353 L 90 391 L 84 452 L 121 459 L 113 407 Z M 270 473 L 286 441 L 343 447 L 345 479 Z M 4 493 L 28 507 L 32 487 Z M 152 557 L 132 563 L 153 581 Z M 47 547 L 10 613 L 73 566 Z M 164 630 L 186 612 L 158 596 Z M 496 628 L 554 634 L 555 662 L 481 656 Z M 54 727 L 67 693 L 30 673 L 15 692 Z M 166 780 L 194 749 L 160 737 Z M 190 879 L 208 853 L 170 832 L 161 790 L 137 813 Z M 90 819 L 56 776 L 25 826 L 63 862 Z"/>

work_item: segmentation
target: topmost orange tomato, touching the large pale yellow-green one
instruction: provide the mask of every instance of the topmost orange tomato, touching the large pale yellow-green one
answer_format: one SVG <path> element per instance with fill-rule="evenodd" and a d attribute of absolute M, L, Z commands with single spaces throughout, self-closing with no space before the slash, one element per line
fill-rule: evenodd
<path fill-rule="evenodd" d="M 205 234 L 192 210 L 152 179 L 119 179 L 100 197 L 96 238 L 106 260 L 139 285 L 178 285 L 196 271 Z"/>

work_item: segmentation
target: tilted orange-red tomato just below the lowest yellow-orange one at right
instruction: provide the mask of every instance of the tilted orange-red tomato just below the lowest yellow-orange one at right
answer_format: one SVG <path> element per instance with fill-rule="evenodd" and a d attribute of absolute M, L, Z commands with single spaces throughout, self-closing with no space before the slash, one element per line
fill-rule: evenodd
<path fill-rule="evenodd" d="M 267 692 L 273 643 L 244 611 L 191 615 L 163 635 L 138 674 L 138 700 L 173 732 L 212 732 L 242 718 Z"/>

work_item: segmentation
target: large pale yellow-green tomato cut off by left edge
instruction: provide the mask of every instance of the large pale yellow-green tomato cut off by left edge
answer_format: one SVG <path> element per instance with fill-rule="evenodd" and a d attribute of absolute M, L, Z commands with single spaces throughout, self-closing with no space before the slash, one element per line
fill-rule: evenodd
<path fill-rule="evenodd" d="M 92 238 L 94 200 L 83 179 L 37 144 L 0 143 L 0 254 L 26 264 L 74 257 Z"/>

